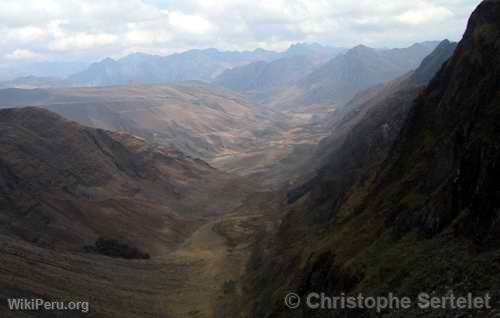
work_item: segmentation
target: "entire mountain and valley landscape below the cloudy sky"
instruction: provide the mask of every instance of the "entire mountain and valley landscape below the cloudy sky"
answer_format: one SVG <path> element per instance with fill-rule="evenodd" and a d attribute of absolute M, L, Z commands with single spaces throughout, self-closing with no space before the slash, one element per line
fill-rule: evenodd
<path fill-rule="evenodd" d="M 39 88 L 0 89 L 0 316 L 494 317 L 304 302 L 500 299 L 499 74 L 485 0 L 459 43 L 133 54 L 13 81 Z"/>

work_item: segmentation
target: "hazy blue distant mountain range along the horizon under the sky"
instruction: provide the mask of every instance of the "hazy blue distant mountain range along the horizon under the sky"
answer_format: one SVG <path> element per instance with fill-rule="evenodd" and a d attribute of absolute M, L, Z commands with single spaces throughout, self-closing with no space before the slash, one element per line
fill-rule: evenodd
<path fill-rule="evenodd" d="M 387 70 L 388 77 L 382 78 L 385 80 L 395 74 L 400 75 L 402 71 L 415 68 L 435 45 L 437 42 L 425 42 L 415 44 L 408 49 L 373 49 L 371 54 L 365 52 L 364 56 L 361 55 L 357 58 L 363 60 L 367 65 L 388 63 L 377 60 L 377 58 L 390 59 L 391 69 Z M 332 60 L 345 51 L 346 49 L 343 48 L 322 46 L 317 43 L 299 43 L 290 46 L 288 50 L 283 52 L 262 49 L 224 52 L 216 49 L 205 49 L 190 50 L 168 56 L 134 53 L 118 60 L 103 59 L 91 64 L 85 70 L 70 74 L 65 78 L 54 76 L 53 73 L 48 72 L 44 74 L 44 77 L 27 76 L 4 81 L 0 83 L 0 87 L 116 86 L 168 84 L 189 80 L 215 82 L 241 92 L 270 90 L 299 80 L 308 83 L 304 85 L 317 86 L 318 84 L 315 84 L 314 81 L 321 81 L 321 78 L 318 78 L 321 77 L 319 70 L 325 69 L 319 67 L 321 64 L 330 60 L 329 64 L 334 65 L 359 62 L 352 61 L 355 58 L 353 56 L 346 56 L 345 61 L 335 62 Z M 361 51 L 361 49 L 353 49 L 348 52 L 350 55 L 359 55 L 362 54 Z M 326 64 L 325 67 L 335 67 L 328 66 L 329 64 Z M 306 78 L 315 70 L 316 75 L 311 74 L 311 78 Z M 372 83 L 372 81 L 367 81 Z M 314 94 L 314 92 L 309 94 Z"/>

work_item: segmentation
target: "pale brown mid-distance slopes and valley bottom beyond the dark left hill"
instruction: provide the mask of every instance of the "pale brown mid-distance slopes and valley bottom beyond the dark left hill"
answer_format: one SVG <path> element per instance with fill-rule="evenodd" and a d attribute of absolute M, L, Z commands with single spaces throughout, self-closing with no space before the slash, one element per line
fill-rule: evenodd
<path fill-rule="evenodd" d="M 104 88 L 0 90 L 0 109 L 35 106 L 89 127 L 133 134 L 273 187 L 302 164 L 328 131 L 322 106 L 274 111 L 201 82 Z"/>

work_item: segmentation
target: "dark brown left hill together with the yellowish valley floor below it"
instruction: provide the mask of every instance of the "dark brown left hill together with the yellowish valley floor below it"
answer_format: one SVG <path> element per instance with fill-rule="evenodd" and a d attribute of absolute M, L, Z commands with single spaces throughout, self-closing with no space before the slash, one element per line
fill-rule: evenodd
<path fill-rule="evenodd" d="M 40 125 L 51 128 L 34 133 Z M 0 170 L 2 297 L 81 299 L 95 317 L 216 317 L 223 310 L 221 297 L 235 292 L 253 237 L 271 218 L 264 201 L 271 192 L 176 150 L 40 108 L 0 110 L 0 131 L 8 151 Z M 81 179 L 62 177 L 70 173 Z M 99 237 L 151 259 L 87 252 Z M 6 306 L 2 316 L 19 316 Z"/>

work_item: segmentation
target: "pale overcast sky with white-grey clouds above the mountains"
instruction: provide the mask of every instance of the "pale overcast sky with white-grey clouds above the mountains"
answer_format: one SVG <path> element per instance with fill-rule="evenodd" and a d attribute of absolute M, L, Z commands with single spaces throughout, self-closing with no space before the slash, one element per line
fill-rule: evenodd
<path fill-rule="evenodd" d="M 458 40 L 479 0 L 1 0 L 0 63 Z"/>

